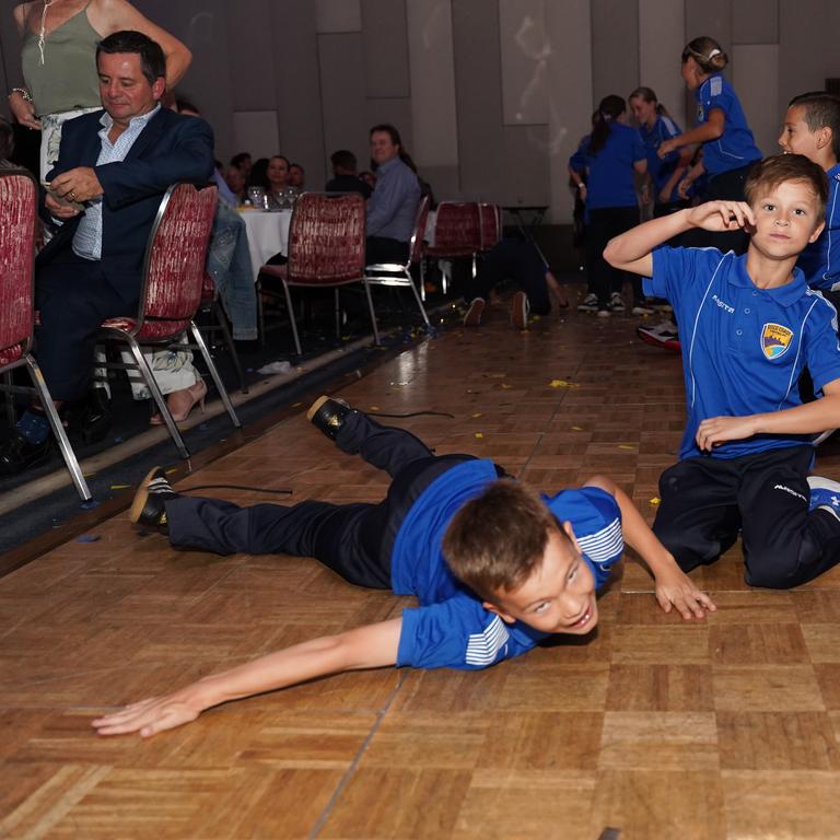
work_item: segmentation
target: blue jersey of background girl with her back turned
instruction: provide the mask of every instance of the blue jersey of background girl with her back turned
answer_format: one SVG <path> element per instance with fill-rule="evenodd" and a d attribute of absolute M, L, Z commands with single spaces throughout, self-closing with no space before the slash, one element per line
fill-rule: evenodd
<path fill-rule="evenodd" d="M 609 137 L 597 154 L 590 151 L 592 138 L 586 138 L 581 152 L 586 163 L 586 209 L 605 207 L 635 207 L 635 178 L 633 164 L 645 160 L 642 137 L 634 128 L 612 122 Z M 572 160 L 578 168 L 579 153 Z"/>

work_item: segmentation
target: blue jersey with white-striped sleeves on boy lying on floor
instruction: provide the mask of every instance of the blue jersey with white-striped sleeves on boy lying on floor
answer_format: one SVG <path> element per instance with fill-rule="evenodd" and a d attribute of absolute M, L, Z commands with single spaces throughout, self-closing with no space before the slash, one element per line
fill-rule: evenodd
<path fill-rule="evenodd" d="M 402 611 L 397 665 L 416 668 L 485 668 L 529 651 L 546 633 L 508 625 L 450 571 L 441 552 L 455 513 L 497 480 L 490 460 L 467 460 L 439 476 L 406 515 L 394 542 L 392 582 L 419 607 Z M 584 559 L 600 586 L 623 551 L 616 500 L 597 488 L 542 497 L 561 522 L 571 522 Z"/>

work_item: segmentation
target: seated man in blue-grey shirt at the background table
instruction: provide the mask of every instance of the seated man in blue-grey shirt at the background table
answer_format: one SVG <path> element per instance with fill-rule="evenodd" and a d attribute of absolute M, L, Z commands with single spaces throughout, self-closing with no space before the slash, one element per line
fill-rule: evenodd
<path fill-rule="evenodd" d="M 377 168 L 376 188 L 368 200 L 368 265 L 405 262 L 420 203 L 413 162 L 390 125 L 371 129 L 371 158 Z"/>

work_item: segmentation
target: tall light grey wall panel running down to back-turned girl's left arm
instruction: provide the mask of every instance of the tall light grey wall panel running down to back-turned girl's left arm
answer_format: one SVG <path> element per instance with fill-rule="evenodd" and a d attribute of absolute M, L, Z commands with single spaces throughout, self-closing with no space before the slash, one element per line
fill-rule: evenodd
<path fill-rule="evenodd" d="M 551 44 L 548 60 L 549 219 L 572 220 L 572 196 L 567 172 L 569 156 L 590 131 L 592 62 L 590 0 L 553 0 L 546 7 L 546 33 Z"/>

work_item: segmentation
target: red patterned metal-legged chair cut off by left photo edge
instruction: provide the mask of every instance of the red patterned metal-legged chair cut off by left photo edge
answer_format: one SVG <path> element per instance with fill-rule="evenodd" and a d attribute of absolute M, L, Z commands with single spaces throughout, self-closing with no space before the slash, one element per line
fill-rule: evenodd
<path fill-rule="evenodd" d="M 79 495 L 89 501 L 91 491 L 84 480 L 75 453 L 67 440 L 44 375 L 32 355 L 35 330 L 35 236 L 37 229 L 38 186 L 23 170 L 0 170 L 0 373 L 7 393 L 10 422 L 14 422 L 12 394 L 37 393 L 47 412 L 52 434 L 58 441 Z M 12 371 L 25 366 L 33 388 L 12 384 Z"/>

